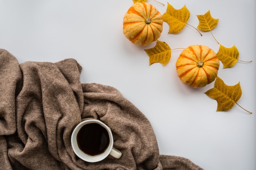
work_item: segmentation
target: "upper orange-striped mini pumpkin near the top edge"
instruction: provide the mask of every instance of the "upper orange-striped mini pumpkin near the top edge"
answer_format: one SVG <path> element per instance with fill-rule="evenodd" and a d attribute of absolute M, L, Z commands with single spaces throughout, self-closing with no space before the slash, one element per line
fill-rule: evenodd
<path fill-rule="evenodd" d="M 163 30 L 161 13 L 151 4 L 136 2 L 124 15 L 123 33 L 136 45 L 146 46 L 156 41 Z"/>

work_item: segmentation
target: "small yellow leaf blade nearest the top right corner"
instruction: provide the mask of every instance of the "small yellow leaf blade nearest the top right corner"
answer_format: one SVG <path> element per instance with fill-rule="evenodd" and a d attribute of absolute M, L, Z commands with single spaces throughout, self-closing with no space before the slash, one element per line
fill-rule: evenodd
<path fill-rule="evenodd" d="M 198 29 L 202 31 L 211 31 L 218 25 L 219 19 L 212 18 L 210 10 L 204 15 L 197 15 L 199 24 Z"/>

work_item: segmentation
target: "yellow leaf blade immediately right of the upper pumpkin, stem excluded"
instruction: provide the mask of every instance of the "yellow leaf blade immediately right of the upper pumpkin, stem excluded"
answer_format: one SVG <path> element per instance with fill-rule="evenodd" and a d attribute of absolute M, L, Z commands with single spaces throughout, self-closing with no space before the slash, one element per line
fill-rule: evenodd
<path fill-rule="evenodd" d="M 178 33 L 184 28 L 189 17 L 190 12 L 186 5 L 181 9 L 175 9 L 168 3 L 166 13 L 163 14 L 163 21 L 169 25 L 169 33 Z"/>

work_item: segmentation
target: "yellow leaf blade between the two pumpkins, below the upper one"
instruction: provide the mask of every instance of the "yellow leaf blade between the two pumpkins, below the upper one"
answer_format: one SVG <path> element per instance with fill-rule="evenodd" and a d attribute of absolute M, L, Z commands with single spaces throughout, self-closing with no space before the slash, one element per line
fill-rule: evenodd
<path fill-rule="evenodd" d="M 145 51 L 149 56 L 149 65 L 159 62 L 165 66 L 171 59 L 171 48 L 166 42 L 157 40 L 153 48 Z"/>

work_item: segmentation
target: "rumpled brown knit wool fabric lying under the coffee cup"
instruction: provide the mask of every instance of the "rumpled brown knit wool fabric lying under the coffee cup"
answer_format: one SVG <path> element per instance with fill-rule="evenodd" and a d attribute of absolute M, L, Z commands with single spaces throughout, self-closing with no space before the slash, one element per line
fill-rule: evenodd
<path fill-rule="evenodd" d="M 189 159 L 159 155 L 150 122 L 116 88 L 81 84 L 74 59 L 19 64 L 0 49 L 0 170 L 202 170 Z M 88 163 L 70 137 L 85 119 L 113 133 L 120 159 Z"/>

